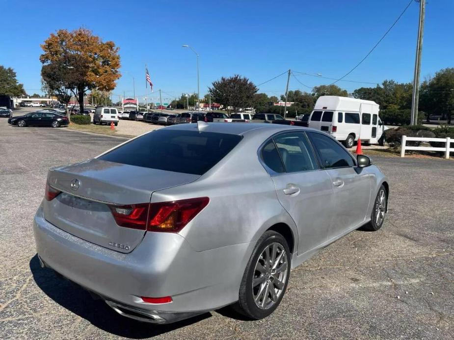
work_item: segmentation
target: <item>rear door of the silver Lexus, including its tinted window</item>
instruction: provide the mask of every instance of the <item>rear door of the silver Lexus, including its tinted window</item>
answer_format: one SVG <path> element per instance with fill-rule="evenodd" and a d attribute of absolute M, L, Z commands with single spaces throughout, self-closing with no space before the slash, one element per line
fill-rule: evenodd
<path fill-rule="evenodd" d="M 327 240 L 334 209 L 331 177 L 320 170 L 304 132 L 285 132 L 268 141 L 262 158 L 277 197 L 298 229 L 298 254 L 317 248 Z"/>

